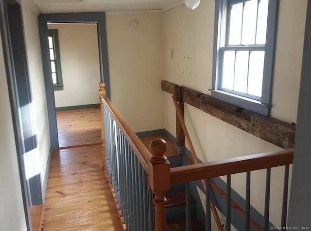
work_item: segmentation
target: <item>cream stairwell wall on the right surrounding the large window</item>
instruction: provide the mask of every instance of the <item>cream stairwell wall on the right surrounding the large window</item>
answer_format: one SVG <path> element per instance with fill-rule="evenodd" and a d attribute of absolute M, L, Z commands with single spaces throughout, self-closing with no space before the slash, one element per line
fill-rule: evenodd
<path fill-rule="evenodd" d="M 289 123 L 296 122 L 306 6 L 307 0 L 280 1 L 272 117 Z M 165 80 L 210 94 L 214 9 L 214 1 L 202 0 L 194 11 L 182 4 L 163 14 Z M 175 135 L 172 98 L 166 92 L 163 94 L 165 128 Z M 185 117 L 190 137 L 202 161 L 281 150 L 187 104 Z M 270 218 L 275 225 L 280 224 L 283 169 L 272 171 Z M 252 173 L 251 202 L 261 213 L 264 210 L 264 185 L 265 171 Z M 232 186 L 244 197 L 245 175 L 235 175 Z"/>

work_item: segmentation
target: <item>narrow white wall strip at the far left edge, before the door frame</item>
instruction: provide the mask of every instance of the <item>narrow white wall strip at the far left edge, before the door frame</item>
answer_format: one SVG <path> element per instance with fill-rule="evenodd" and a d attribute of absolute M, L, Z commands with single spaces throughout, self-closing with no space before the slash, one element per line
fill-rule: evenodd
<path fill-rule="evenodd" d="M 26 231 L 12 114 L 0 37 L 0 229 Z"/>

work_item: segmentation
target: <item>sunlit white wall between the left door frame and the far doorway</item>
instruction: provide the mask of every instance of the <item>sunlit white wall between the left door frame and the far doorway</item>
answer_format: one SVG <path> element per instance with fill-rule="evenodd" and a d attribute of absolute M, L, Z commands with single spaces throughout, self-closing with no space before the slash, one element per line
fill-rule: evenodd
<path fill-rule="evenodd" d="M 38 142 L 37 148 L 32 150 L 29 154 L 25 155 L 25 168 L 26 175 L 29 177 L 41 173 L 41 183 L 43 185 L 51 143 L 39 40 L 38 19 L 37 16 L 26 5 L 23 4 L 22 9 L 24 17 L 29 77 L 33 97 L 33 123 Z"/>

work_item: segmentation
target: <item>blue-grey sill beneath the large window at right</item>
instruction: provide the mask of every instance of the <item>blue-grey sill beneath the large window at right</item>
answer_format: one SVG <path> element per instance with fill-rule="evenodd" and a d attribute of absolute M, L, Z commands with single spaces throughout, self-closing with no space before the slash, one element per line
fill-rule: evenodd
<path fill-rule="evenodd" d="M 240 95 L 232 94 L 229 92 L 224 92 L 220 90 L 213 90 L 210 89 L 211 96 L 222 100 L 226 103 L 236 105 L 238 107 L 254 111 L 258 114 L 269 116 L 270 115 L 270 108 L 268 105 L 262 104 L 260 101 L 249 99 Z"/>

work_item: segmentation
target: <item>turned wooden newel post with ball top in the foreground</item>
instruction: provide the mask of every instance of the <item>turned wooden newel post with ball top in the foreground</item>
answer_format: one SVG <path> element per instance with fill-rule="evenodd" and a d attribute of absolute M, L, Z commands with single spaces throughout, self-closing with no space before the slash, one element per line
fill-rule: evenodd
<path fill-rule="evenodd" d="M 155 194 L 155 231 L 166 231 L 165 196 L 171 187 L 170 162 L 164 156 L 166 142 L 163 139 L 154 139 L 150 143 L 152 158 L 148 163 L 148 181 Z"/>

